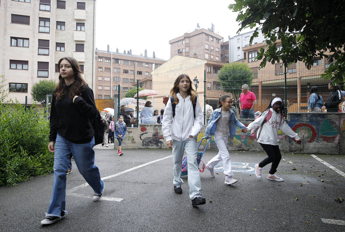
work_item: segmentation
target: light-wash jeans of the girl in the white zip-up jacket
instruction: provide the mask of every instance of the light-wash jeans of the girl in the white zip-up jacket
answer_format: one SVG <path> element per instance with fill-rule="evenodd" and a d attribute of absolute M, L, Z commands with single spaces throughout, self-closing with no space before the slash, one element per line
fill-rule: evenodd
<path fill-rule="evenodd" d="M 196 139 L 188 139 L 187 141 L 172 140 L 172 161 L 174 162 L 174 185 L 181 186 L 183 180 L 181 179 L 181 166 L 183 151 L 186 151 L 188 162 L 188 185 L 189 198 L 194 199 L 196 196 L 201 196 L 201 182 L 197 156 L 197 141 Z"/>

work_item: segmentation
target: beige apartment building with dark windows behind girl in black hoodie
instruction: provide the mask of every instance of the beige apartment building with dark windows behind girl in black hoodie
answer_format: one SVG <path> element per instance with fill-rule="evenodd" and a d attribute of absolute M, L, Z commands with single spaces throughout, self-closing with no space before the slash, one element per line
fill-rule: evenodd
<path fill-rule="evenodd" d="M 96 0 L 2 0 L 1 80 L 9 98 L 25 102 L 32 85 L 58 81 L 60 58 L 77 59 L 84 79 L 94 89 Z"/>

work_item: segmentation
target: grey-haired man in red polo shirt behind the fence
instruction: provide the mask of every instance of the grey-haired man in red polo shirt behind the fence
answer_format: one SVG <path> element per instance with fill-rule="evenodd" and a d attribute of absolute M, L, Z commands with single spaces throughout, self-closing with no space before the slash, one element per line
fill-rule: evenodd
<path fill-rule="evenodd" d="M 256 97 L 253 92 L 248 90 L 249 86 L 244 84 L 242 86 L 242 94 L 239 97 L 239 109 L 241 111 L 241 118 L 254 118 L 254 107 Z"/>

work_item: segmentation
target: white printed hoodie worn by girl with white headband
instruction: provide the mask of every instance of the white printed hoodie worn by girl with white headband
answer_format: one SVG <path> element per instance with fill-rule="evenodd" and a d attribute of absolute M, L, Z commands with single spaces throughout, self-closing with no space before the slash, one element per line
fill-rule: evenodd
<path fill-rule="evenodd" d="M 272 108 L 269 109 L 272 112 L 272 117 L 268 120 L 268 122 L 264 123 L 262 128 L 259 128 L 258 132 L 256 133 L 256 138 L 259 135 L 260 130 L 260 137 L 257 138 L 257 142 L 263 144 L 271 144 L 271 145 L 278 145 L 278 130 L 282 130 L 288 136 L 299 140 L 300 137 L 297 133 L 295 133 L 289 125 L 285 122 L 284 118 L 280 122 L 280 113 L 276 113 Z M 264 112 L 260 117 L 254 120 L 254 122 L 250 123 L 247 128 L 248 131 L 254 129 L 257 126 L 261 126 L 264 122 L 268 111 Z"/>

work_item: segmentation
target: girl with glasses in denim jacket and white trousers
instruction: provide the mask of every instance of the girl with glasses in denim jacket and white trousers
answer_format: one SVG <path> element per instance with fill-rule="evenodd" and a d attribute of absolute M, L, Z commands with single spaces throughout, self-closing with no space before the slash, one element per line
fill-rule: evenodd
<path fill-rule="evenodd" d="M 231 140 L 234 138 L 236 127 L 242 128 L 242 132 L 247 127 L 236 119 L 235 112 L 231 110 L 233 99 L 230 95 L 223 95 L 219 98 L 217 109 L 212 112 L 208 121 L 205 136 L 214 135 L 215 142 L 218 146 L 219 152 L 207 164 L 206 168 L 212 177 L 214 175 L 214 166 L 223 161 L 225 182 L 224 184 L 235 184 L 237 180 L 233 178 L 231 172 L 231 160 L 227 149 L 228 137 Z"/>

